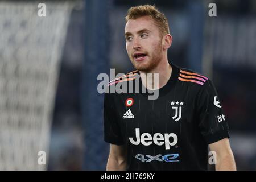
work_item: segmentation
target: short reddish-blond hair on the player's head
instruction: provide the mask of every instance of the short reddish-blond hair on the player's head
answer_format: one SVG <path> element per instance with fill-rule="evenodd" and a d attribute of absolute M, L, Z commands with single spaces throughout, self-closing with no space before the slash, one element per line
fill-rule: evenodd
<path fill-rule="evenodd" d="M 149 16 L 152 20 L 154 20 L 162 35 L 170 34 L 169 24 L 166 16 L 156 9 L 155 5 L 140 5 L 131 7 L 127 11 L 127 15 L 125 17 L 126 23 L 129 19 L 137 19 L 141 18 L 142 16 Z"/>

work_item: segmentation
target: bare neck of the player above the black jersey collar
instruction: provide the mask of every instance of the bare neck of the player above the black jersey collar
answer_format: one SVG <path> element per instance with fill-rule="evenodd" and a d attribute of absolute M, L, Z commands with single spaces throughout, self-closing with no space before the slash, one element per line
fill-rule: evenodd
<path fill-rule="evenodd" d="M 152 69 L 151 71 L 139 72 L 141 74 L 141 80 L 144 87 L 150 90 L 156 90 L 162 88 L 164 85 L 167 84 L 168 80 L 171 77 L 172 67 L 168 63 L 168 60 L 166 59 L 160 61 L 156 68 Z M 157 73 L 158 77 L 154 75 L 154 73 Z"/>

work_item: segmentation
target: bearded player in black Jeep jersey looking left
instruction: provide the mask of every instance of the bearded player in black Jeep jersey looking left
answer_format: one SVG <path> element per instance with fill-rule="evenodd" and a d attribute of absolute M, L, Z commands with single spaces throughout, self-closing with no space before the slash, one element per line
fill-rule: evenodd
<path fill-rule="evenodd" d="M 109 85 L 139 79 L 152 91 L 156 83 L 147 75 L 158 73 L 159 96 L 148 100 L 149 93 L 105 93 L 106 169 L 207 170 L 209 145 L 216 170 L 235 170 L 228 124 L 212 81 L 168 63 L 172 36 L 166 17 L 154 6 L 131 7 L 125 38 L 137 70 Z"/>

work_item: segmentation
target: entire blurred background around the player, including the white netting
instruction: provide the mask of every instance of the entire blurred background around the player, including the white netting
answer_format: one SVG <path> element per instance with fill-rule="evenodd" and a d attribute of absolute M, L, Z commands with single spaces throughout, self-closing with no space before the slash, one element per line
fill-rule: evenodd
<path fill-rule="evenodd" d="M 46 17 L 37 14 L 40 2 Z M 208 16 L 212 2 L 217 17 Z M 256 169 L 254 0 L 0 1 L 0 169 L 105 169 L 97 76 L 133 71 L 124 17 L 141 4 L 155 4 L 169 20 L 168 59 L 212 78 L 237 169 Z M 46 151 L 46 165 L 38 151 Z"/>

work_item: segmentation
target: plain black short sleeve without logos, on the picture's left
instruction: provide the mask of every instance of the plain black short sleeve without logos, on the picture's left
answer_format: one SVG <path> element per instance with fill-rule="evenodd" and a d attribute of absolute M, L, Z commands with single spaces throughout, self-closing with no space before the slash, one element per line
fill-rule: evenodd
<path fill-rule="evenodd" d="M 121 145 L 124 142 L 112 95 L 111 93 L 104 94 L 104 140 L 108 143 Z"/>

